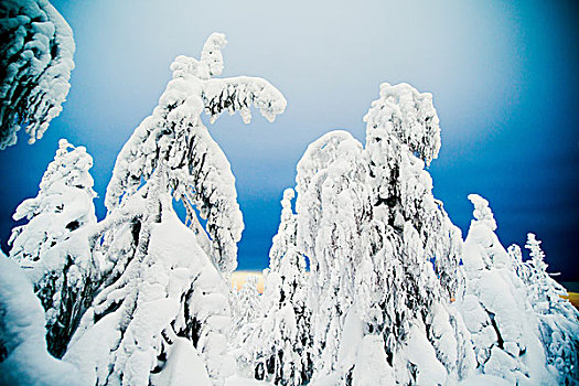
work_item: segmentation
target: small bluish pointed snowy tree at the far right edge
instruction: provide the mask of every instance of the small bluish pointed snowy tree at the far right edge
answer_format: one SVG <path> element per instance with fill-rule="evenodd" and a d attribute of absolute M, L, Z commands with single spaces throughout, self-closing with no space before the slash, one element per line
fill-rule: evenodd
<path fill-rule="evenodd" d="M 539 320 L 547 364 L 557 372 L 560 385 L 579 383 L 579 311 L 561 298 L 566 289 L 547 274 L 540 242 L 529 233 L 527 244 L 528 296 Z"/>

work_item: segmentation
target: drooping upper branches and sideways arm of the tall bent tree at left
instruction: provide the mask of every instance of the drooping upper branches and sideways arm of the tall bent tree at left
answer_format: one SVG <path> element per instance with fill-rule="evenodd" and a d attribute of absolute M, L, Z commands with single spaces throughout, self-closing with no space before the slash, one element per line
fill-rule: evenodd
<path fill-rule="evenodd" d="M 272 121 L 283 112 L 286 99 L 261 78 L 214 78 L 223 69 L 221 49 L 225 43 L 223 34 L 214 33 L 203 47 L 201 61 L 179 56 L 171 64 L 173 79 L 159 106 L 117 158 L 105 204 L 112 211 L 162 163 L 173 196 L 183 200 L 187 208 L 187 219 L 200 228 L 194 206 L 206 218 L 212 258 L 223 272 L 230 274 L 237 266 L 242 212 L 229 162 L 211 138 L 201 114 L 205 111 L 213 122 L 223 111 L 239 111 L 249 122 L 249 107 L 254 106 Z"/>

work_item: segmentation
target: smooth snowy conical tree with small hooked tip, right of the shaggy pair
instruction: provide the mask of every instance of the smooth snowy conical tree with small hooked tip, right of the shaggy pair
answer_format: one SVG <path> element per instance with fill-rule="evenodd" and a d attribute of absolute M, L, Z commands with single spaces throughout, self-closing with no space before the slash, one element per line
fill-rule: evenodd
<path fill-rule="evenodd" d="M 467 288 L 461 309 L 479 371 L 512 384 L 555 384 L 546 367 L 538 321 L 515 261 L 494 234 L 489 202 L 469 195 L 474 217 L 464 244 Z"/>

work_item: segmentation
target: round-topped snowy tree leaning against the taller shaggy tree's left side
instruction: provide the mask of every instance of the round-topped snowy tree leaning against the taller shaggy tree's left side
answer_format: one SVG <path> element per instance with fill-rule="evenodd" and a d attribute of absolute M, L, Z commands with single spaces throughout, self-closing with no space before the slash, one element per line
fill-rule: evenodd
<path fill-rule="evenodd" d="M 362 144 L 346 131 L 311 143 L 298 163 L 297 245 L 310 259 L 314 371 L 336 369 L 346 312 L 354 302 L 356 268 L 369 216 L 367 165 Z"/>

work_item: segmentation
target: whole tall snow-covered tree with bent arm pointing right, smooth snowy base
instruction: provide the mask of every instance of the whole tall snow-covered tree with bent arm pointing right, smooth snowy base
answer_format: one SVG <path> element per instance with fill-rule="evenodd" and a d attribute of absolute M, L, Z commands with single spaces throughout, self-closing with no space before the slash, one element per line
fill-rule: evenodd
<path fill-rule="evenodd" d="M 253 106 L 272 121 L 286 100 L 261 78 L 214 78 L 225 43 L 214 33 L 200 61 L 173 62 L 159 106 L 117 158 L 109 212 L 92 235 L 108 279 L 65 356 L 88 383 L 223 384 L 235 369 L 226 340 L 228 278 L 243 221 L 229 163 L 201 114 L 213 122 L 224 110 L 239 111 L 248 122 Z M 173 199 L 185 205 L 190 227 Z"/>

